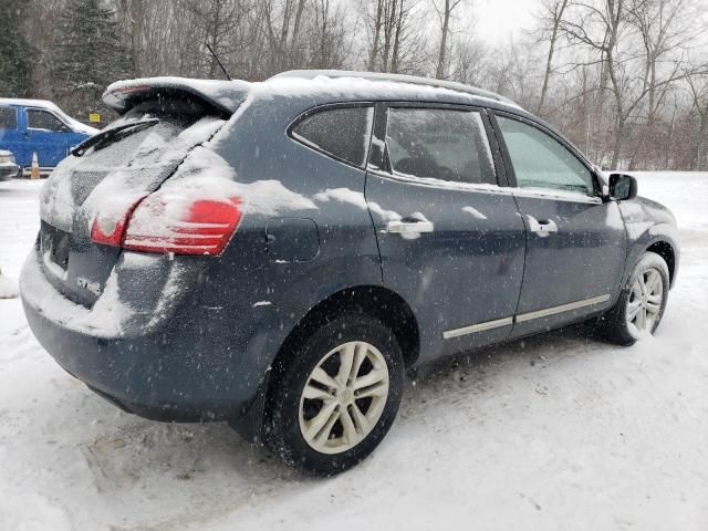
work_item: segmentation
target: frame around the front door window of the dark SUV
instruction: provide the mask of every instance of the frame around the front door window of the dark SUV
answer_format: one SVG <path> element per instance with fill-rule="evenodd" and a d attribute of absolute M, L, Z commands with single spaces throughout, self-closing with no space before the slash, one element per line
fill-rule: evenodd
<path fill-rule="evenodd" d="M 545 133 L 546 135 L 549 135 L 551 138 L 553 138 L 554 140 L 556 140 L 559 144 L 561 144 L 565 149 L 568 149 L 570 152 L 571 155 L 573 155 L 573 157 L 575 157 L 586 169 L 587 171 L 590 171 L 590 175 L 592 176 L 593 179 L 593 188 L 594 188 L 594 192 L 598 194 L 600 190 L 600 184 L 597 183 L 597 176 L 595 175 L 595 168 L 593 167 L 593 165 L 585 159 L 585 157 L 572 145 L 569 144 L 568 140 L 565 140 L 563 137 L 559 136 L 555 132 L 543 127 L 542 124 L 539 124 L 532 119 L 529 119 L 524 116 L 519 116 L 517 114 L 513 113 L 507 113 L 503 111 L 497 111 L 497 110 L 490 110 L 489 112 L 489 118 L 491 121 L 491 125 L 492 125 L 492 131 L 496 137 L 496 140 L 499 143 L 499 148 L 501 150 L 501 156 L 504 163 L 504 169 L 507 170 L 507 179 L 509 183 L 509 186 L 512 187 L 514 189 L 514 192 L 517 194 L 523 194 L 523 195 L 531 195 L 531 196 L 539 196 L 539 197 L 548 197 L 551 199 L 565 199 L 569 201 L 581 201 L 581 202 L 602 202 L 602 199 L 600 197 L 591 197 L 587 196 L 587 198 L 579 198 L 579 199 L 574 199 L 570 196 L 566 195 L 562 195 L 562 194 L 558 194 L 554 192 L 552 190 L 546 191 L 532 191 L 532 190 L 523 190 L 522 188 L 519 187 L 519 184 L 517 181 L 517 174 L 516 170 L 513 168 L 513 164 L 511 163 L 511 156 L 509 155 L 509 148 L 507 147 L 507 142 L 504 140 L 503 134 L 501 133 L 501 127 L 499 126 L 499 122 L 497 121 L 497 116 L 500 117 L 504 117 L 504 118 L 509 118 L 509 119 L 516 119 L 517 122 L 521 122 L 522 124 L 527 124 L 531 127 L 534 127 L 537 129 L 539 129 L 542 133 Z M 597 199 L 597 200 L 596 200 Z"/>

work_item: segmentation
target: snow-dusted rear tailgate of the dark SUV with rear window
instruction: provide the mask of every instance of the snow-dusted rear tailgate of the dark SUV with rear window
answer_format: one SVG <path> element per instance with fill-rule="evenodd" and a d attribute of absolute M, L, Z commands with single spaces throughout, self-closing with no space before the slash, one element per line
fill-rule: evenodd
<path fill-rule="evenodd" d="M 121 84 L 121 91 L 133 87 L 119 108 L 124 115 L 98 134 L 102 142 L 93 137 L 94 145 L 85 153 L 80 149 L 75 152 L 80 156 L 62 162 L 40 198 L 38 260 L 43 274 L 63 296 L 85 308 L 92 308 L 106 289 L 123 253 L 118 247 L 91 240 L 97 214 L 101 219 L 110 219 L 111 212 L 119 217 L 158 189 L 196 146 L 214 137 L 244 98 L 243 92 L 231 87 L 232 106 L 227 108 L 175 86 L 166 91 L 134 85 Z M 133 124 L 137 126 L 131 128 Z M 111 133 L 119 127 L 127 128 Z"/>

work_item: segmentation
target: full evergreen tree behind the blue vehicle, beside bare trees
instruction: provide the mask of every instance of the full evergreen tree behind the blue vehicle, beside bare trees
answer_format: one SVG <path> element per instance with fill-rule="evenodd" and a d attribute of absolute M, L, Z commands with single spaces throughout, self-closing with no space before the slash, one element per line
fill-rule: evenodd
<path fill-rule="evenodd" d="M 102 0 L 69 0 L 52 62 L 53 92 L 66 111 L 84 121 L 105 114 L 103 91 L 131 72 L 113 10 Z"/>

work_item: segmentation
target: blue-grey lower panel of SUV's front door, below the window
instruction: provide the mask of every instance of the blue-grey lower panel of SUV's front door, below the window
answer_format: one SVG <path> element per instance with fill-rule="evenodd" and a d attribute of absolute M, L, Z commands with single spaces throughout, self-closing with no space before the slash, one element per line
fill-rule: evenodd
<path fill-rule="evenodd" d="M 625 229 L 615 202 L 514 195 L 527 223 L 523 287 L 513 335 L 563 325 L 614 304 L 626 258 Z M 551 220 L 558 232 L 544 236 L 534 220 Z M 573 311 L 539 316 L 577 303 Z M 586 303 L 586 304 L 581 304 Z M 539 320 L 537 322 L 537 320 Z"/>

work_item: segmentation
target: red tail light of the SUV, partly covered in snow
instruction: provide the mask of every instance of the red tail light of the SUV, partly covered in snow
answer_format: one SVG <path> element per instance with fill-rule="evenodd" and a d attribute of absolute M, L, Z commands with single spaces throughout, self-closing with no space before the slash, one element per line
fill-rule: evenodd
<path fill-rule="evenodd" d="M 140 252 L 218 256 L 241 220 L 241 201 L 195 199 L 179 191 L 140 198 L 123 216 L 98 214 L 91 239 Z"/>

